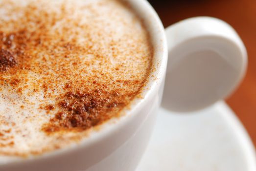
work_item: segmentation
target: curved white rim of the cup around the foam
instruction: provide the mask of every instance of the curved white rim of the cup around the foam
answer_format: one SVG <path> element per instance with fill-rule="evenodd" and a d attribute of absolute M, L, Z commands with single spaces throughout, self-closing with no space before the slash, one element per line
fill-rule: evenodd
<path fill-rule="evenodd" d="M 99 131 L 93 131 L 90 135 L 78 144 L 75 144 L 75 147 L 65 147 L 59 150 L 52 150 L 40 155 L 31 156 L 28 158 L 14 157 L 7 162 L 0 162 L 0 169 L 2 166 L 20 164 L 20 163 L 29 163 L 38 160 L 43 160 L 45 158 L 55 158 L 60 155 L 68 155 L 74 149 L 79 148 L 90 148 L 95 142 L 101 141 L 104 137 L 110 136 L 114 130 L 118 129 L 120 126 L 127 123 L 131 120 L 138 110 L 146 104 L 146 99 L 148 99 L 152 94 L 160 88 L 161 83 L 165 77 L 166 65 L 167 65 L 167 42 L 165 37 L 165 31 L 163 23 L 160 20 L 158 14 L 150 5 L 147 0 L 122 0 L 131 6 L 132 10 L 137 14 L 137 16 L 143 21 L 146 30 L 149 33 L 151 43 L 154 48 L 154 59 L 153 65 L 154 70 L 150 73 L 148 82 L 143 88 L 141 93 L 143 98 L 136 98 L 131 102 L 129 109 L 125 109 L 125 114 L 118 117 L 112 118 L 109 121 L 106 121 L 100 125 Z M 118 120 L 118 121 L 117 121 Z M 117 121 L 117 122 L 116 122 Z"/>

